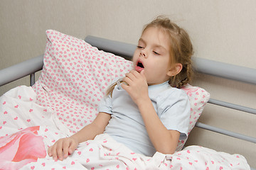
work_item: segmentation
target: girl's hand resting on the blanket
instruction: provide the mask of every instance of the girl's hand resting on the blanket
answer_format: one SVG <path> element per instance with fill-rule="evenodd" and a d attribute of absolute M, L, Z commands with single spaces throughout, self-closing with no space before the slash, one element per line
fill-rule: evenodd
<path fill-rule="evenodd" d="M 72 154 L 77 147 L 78 142 L 75 139 L 72 137 L 65 137 L 48 148 L 48 155 L 53 157 L 55 161 L 58 159 L 62 161 L 68 157 L 68 154 Z"/>

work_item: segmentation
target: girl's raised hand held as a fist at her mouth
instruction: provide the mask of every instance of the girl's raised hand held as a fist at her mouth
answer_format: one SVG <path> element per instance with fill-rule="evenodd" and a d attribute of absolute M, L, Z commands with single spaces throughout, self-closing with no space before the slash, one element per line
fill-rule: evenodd
<path fill-rule="evenodd" d="M 135 70 L 130 71 L 126 74 L 123 81 L 127 82 L 127 85 L 122 84 L 122 88 L 127 91 L 137 105 L 149 98 L 148 84 L 144 70 L 140 73 Z"/>

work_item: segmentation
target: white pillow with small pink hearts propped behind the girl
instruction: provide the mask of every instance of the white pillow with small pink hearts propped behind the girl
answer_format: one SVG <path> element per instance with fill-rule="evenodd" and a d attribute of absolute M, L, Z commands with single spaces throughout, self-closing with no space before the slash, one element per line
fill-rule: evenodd
<path fill-rule="evenodd" d="M 124 77 L 132 62 L 56 30 L 46 30 L 46 35 L 43 71 L 33 86 L 37 103 L 52 109 L 70 132 L 78 132 L 96 117 L 98 103 L 112 79 Z M 191 101 L 192 130 L 210 95 L 189 84 L 182 89 Z M 178 149 L 185 142 L 180 141 Z"/>

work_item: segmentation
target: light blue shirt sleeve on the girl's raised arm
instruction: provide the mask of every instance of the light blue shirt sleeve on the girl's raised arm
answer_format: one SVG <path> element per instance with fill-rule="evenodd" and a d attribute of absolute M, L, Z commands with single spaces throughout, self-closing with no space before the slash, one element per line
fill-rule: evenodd
<path fill-rule="evenodd" d="M 181 132 L 180 140 L 188 137 L 188 125 L 191 106 L 188 96 L 180 89 L 161 95 L 158 114 L 168 130 Z"/>

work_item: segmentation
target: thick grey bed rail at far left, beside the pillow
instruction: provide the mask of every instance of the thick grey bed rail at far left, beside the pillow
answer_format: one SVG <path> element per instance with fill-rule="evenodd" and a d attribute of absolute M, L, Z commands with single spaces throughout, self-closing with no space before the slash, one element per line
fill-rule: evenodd
<path fill-rule="evenodd" d="M 0 70 L 0 86 L 31 75 L 31 86 L 35 84 L 35 73 L 43 68 L 43 55 Z"/>

